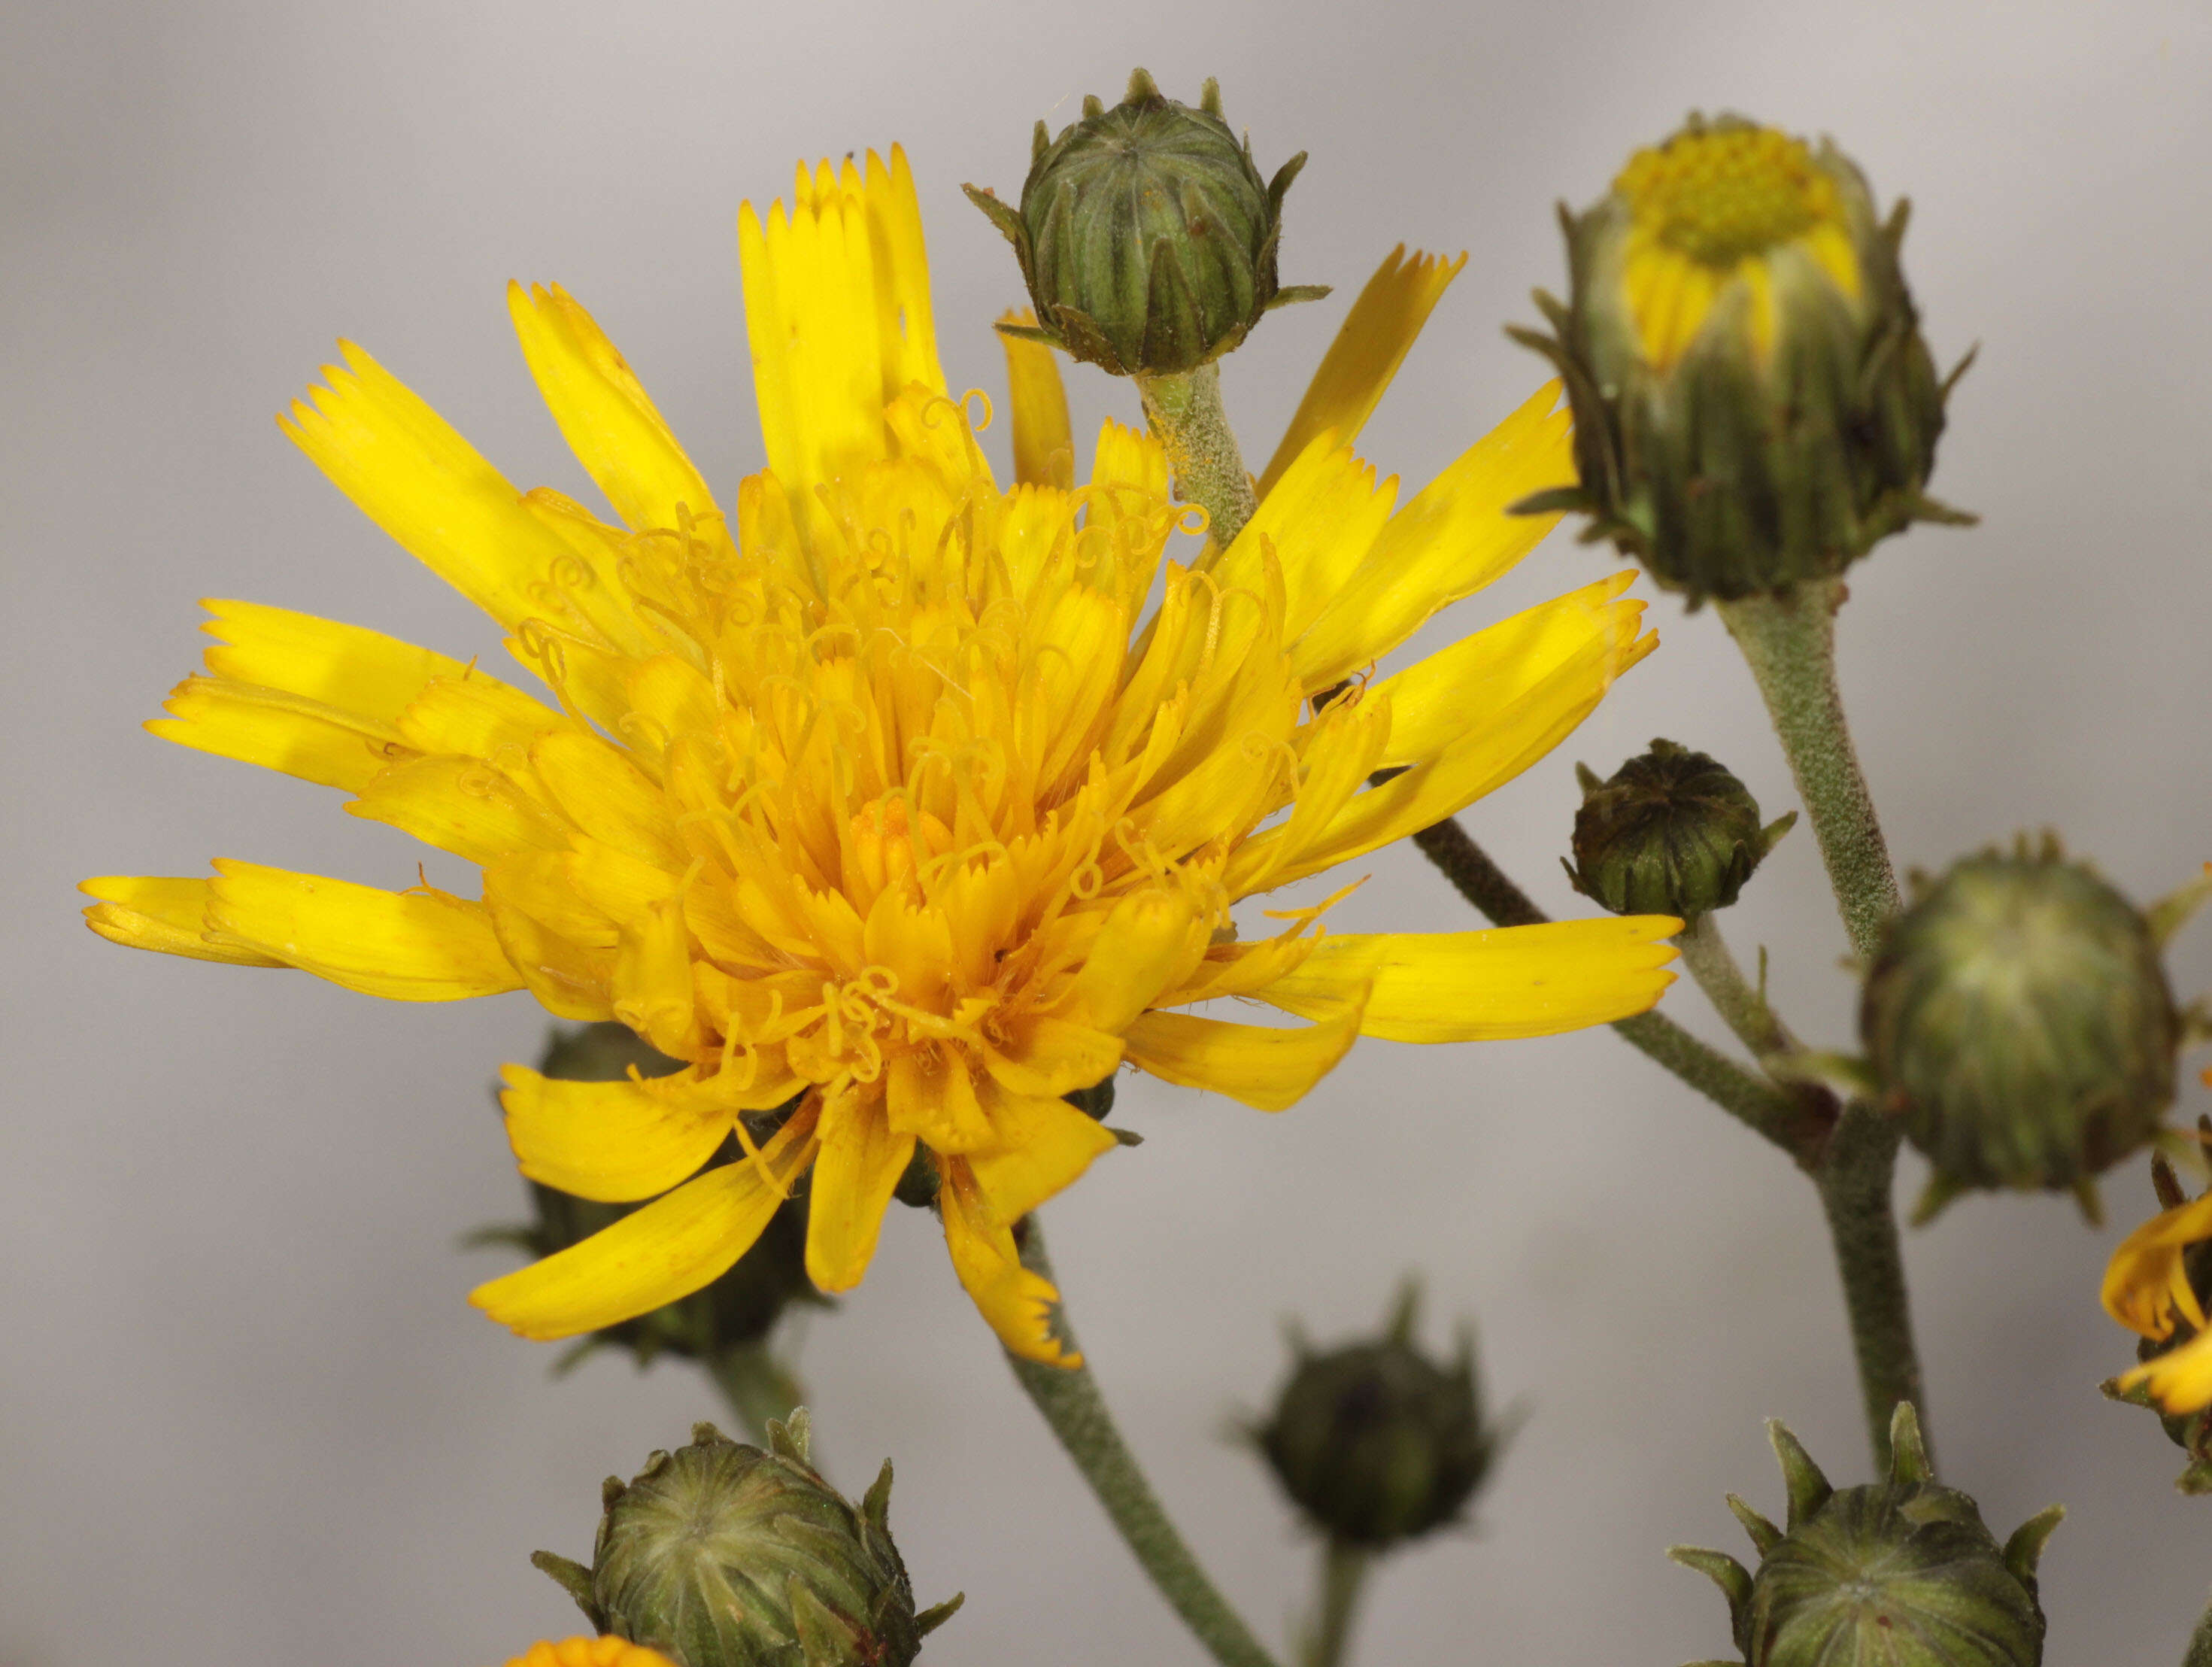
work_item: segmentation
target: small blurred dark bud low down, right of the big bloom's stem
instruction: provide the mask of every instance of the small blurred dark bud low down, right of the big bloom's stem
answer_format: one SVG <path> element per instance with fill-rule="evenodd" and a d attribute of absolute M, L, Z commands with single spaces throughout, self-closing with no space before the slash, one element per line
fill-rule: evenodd
<path fill-rule="evenodd" d="M 1440 1366 L 1413 1346 L 1416 1306 L 1407 1286 L 1380 1342 L 1325 1355 L 1298 1344 L 1274 1417 L 1250 1430 L 1314 1528 L 1347 1545 L 1458 1521 L 1502 1443 L 1482 1423 L 1473 1335 Z"/>

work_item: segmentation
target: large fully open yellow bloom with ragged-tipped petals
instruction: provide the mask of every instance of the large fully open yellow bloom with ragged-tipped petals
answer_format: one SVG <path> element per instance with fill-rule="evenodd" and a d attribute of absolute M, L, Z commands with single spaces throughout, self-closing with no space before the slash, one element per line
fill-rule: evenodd
<path fill-rule="evenodd" d="M 1015 361 L 1024 478 L 991 478 L 938 370 L 896 148 L 801 168 L 790 210 L 745 206 L 739 246 L 768 469 L 728 507 L 562 290 L 509 301 L 619 527 L 515 491 L 352 345 L 283 421 L 557 704 L 473 660 L 210 602 L 208 675 L 150 726 L 349 793 L 352 815 L 480 866 L 480 901 L 243 861 L 86 883 L 119 943 L 398 1001 L 529 990 L 688 1060 L 626 1083 L 507 1067 L 529 1178 L 653 1202 L 478 1306 L 564 1337 L 672 1302 L 810 1169 L 807 1271 L 843 1291 L 922 1147 L 982 1315 L 1073 1364 L 1011 1233 L 1115 1145 L 1062 1096 L 1128 1063 L 1279 1109 L 1360 1034 L 1533 1036 L 1659 996 L 1666 919 L 1332 936 L 1307 908 L 1256 939 L 1230 921 L 1509 779 L 1652 646 L 1619 576 L 1363 684 L 1544 534 L 1504 505 L 1568 472 L 1548 387 L 1398 514 L 1352 456 L 1433 266 L 1378 275 L 1252 525 L 1161 578 L 1188 520 L 1159 445 L 1108 423 L 1088 483 L 1053 485 L 1073 476 L 1048 361 Z M 1217 996 L 1310 1023 L 1172 1012 Z M 770 1138 L 741 1120 L 790 1102 Z M 748 1160 L 701 1169 L 732 1133 Z"/>

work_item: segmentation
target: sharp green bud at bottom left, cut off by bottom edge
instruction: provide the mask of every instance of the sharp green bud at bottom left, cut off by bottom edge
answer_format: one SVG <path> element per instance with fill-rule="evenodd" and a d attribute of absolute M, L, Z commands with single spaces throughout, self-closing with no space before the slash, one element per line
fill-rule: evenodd
<path fill-rule="evenodd" d="M 602 1634 L 677 1667 L 907 1667 L 960 1598 L 916 1614 L 887 1521 L 891 1463 L 854 1508 L 807 1461 L 807 1412 L 768 1452 L 692 1426 L 624 1485 L 608 1477 L 593 1561 L 531 1556 Z"/>

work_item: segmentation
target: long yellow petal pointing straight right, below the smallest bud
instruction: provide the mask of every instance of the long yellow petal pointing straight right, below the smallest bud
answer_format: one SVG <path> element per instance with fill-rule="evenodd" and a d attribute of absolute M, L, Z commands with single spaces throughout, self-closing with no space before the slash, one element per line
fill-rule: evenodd
<path fill-rule="evenodd" d="M 1551 921 L 1480 932 L 1325 936 L 1294 970 L 1252 992 L 1316 1018 L 1374 983 L 1363 1036 L 1394 1043 L 1489 1043 L 1555 1036 L 1646 1012 L 1674 983 L 1663 914 Z"/>

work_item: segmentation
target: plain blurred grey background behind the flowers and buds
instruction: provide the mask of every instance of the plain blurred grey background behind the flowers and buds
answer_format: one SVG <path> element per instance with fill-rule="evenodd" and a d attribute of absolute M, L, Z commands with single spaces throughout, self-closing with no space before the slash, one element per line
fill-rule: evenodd
<path fill-rule="evenodd" d="M 1146 62 L 1219 73 L 1290 199 L 1285 279 L 1356 288 L 1398 239 L 1473 263 L 1363 452 L 1411 485 L 1517 401 L 1500 336 L 1557 283 L 1551 204 L 1588 199 L 1688 106 L 1832 131 L 1918 215 L 1909 268 L 1944 359 L 1982 341 L 1936 487 L 1980 531 L 1858 571 L 1845 682 L 1905 861 L 2057 826 L 2137 897 L 2212 857 L 2203 649 L 2212 29 L 2201 4 L 75 4 L 0 38 L 7 1118 L 0 1125 L 0 1663 L 491 1663 L 575 1616 L 524 1554 L 588 1545 L 597 1481 L 708 1415 L 688 1368 L 551 1350 L 462 1304 L 498 1266 L 453 1238 L 518 1211 L 487 1080 L 522 996 L 403 1007 L 305 976 L 135 956 L 75 923 L 95 872 L 237 855 L 405 883 L 414 850 L 305 784 L 137 733 L 192 669 L 195 598 L 243 596 L 495 653 L 467 604 L 270 427 L 365 341 L 520 483 L 582 489 L 500 306 L 560 279 L 730 485 L 759 434 L 737 310 L 739 197 L 799 155 L 905 139 L 953 385 L 1000 387 L 1006 250 L 958 182 L 1011 188 L 1029 122 Z M 1343 299 L 1272 319 L 1228 370 L 1265 454 Z M 1133 414 L 1075 379 L 1079 434 Z M 989 436 L 1004 445 L 1004 427 Z M 1566 538 L 1467 622 L 1608 571 Z M 1710 615 L 1471 821 L 1546 903 L 1568 766 L 1697 742 L 1778 812 L 1787 775 Z M 1449 925 L 1409 852 L 1347 925 Z M 1812 1036 L 1849 1038 L 1812 841 L 1728 921 L 1776 945 Z M 2183 990 L 2212 972 L 2203 930 Z M 1688 987 L 1670 1012 L 1712 1029 Z M 1066 1288 L 1128 1430 L 1270 1636 L 1310 1545 L 1228 1415 L 1274 1384 L 1279 1322 L 1369 1326 L 1425 1269 L 1528 1423 L 1480 1525 L 1383 1572 L 1365 1660 L 1679 1663 L 1725 1649 L 1672 1541 L 1776 1508 L 1761 1419 L 1860 1474 L 1856 1390 L 1803 1180 L 1613 1036 L 1363 1045 L 1267 1118 L 1124 1078 L 1150 1138 L 1051 1209 Z M 2205 1102 L 2185 1091 L 2183 1111 Z M 1907 1187 L 1918 1184 L 1909 1169 Z M 2064 1499 L 2051 1660 L 2172 1663 L 2212 1578 L 2212 1501 L 2170 1492 L 2154 1423 L 2095 1384 L 2115 1229 L 2062 1200 L 1955 1207 L 1909 1264 L 1942 1459 L 2000 1530 Z M 931 1660 L 1197 1660 L 1018 1399 L 927 1218 L 814 1322 L 803 1366 L 836 1479 L 898 1459 Z"/>

